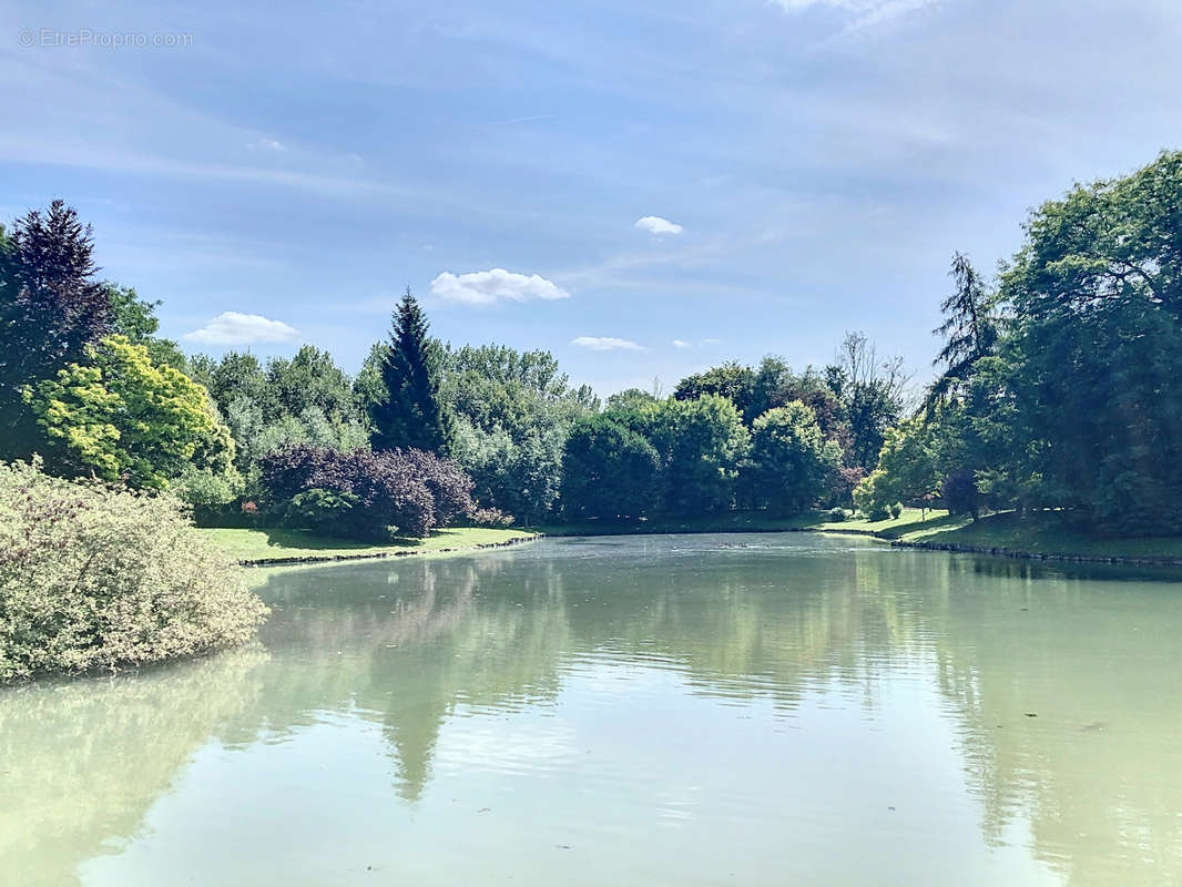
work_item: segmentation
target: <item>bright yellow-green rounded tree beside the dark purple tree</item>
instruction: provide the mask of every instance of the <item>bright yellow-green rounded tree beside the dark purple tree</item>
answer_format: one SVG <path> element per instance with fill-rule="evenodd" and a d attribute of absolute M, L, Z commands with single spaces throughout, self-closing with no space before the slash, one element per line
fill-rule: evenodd
<path fill-rule="evenodd" d="M 123 336 L 26 389 L 64 471 L 165 490 L 187 470 L 227 477 L 234 441 L 206 390 Z"/>

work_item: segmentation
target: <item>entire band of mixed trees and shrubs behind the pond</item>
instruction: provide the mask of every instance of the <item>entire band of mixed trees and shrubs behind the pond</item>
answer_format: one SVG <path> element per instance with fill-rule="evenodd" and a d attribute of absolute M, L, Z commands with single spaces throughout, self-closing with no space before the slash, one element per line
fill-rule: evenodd
<path fill-rule="evenodd" d="M 914 399 L 853 332 L 825 367 L 730 362 L 600 404 L 547 351 L 439 342 L 409 291 L 356 377 L 312 345 L 187 357 L 54 201 L 0 229 L 0 459 L 365 538 L 851 504 L 1177 532 L 1180 220 L 1182 154 L 1163 154 L 1034 211 L 992 278 L 957 253 Z"/>

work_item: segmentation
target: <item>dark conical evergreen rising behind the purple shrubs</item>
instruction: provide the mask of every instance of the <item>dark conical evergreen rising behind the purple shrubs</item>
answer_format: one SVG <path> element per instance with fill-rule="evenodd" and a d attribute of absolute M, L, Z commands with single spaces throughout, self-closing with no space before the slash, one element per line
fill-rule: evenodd
<path fill-rule="evenodd" d="M 384 391 L 369 409 L 374 448 L 446 452 L 449 435 L 439 396 L 439 347 L 427 336 L 427 317 L 410 287 L 394 312 L 381 375 Z"/>

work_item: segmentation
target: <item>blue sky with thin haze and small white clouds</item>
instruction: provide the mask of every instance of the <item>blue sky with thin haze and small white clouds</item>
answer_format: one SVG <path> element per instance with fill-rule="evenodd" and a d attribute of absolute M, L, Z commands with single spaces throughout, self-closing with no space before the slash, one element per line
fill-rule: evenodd
<path fill-rule="evenodd" d="M 0 220 L 63 198 L 186 350 L 350 371 L 409 286 L 600 394 L 847 330 L 918 380 L 954 251 L 1182 148 L 1177 0 L 0 9 Z"/>

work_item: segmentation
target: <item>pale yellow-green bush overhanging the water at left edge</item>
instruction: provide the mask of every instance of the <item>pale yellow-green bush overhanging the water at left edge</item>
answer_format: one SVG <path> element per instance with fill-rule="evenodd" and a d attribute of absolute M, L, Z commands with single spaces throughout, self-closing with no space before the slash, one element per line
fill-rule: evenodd
<path fill-rule="evenodd" d="M 241 643 L 267 608 L 170 496 L 0 465 L 0 680 Z"/>

